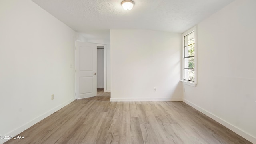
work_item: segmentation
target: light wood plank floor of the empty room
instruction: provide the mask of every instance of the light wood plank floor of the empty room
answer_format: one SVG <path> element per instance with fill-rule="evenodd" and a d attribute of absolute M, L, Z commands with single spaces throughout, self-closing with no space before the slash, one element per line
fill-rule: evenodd
<path fill-rule="evenodd" d="M 5 144 L 252 144 L 184 102 L 75 100 Z"/>

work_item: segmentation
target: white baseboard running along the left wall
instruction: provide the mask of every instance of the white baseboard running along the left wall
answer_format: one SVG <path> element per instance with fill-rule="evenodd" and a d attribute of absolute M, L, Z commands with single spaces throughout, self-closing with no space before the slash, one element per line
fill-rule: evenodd
<path fill-rule="evenodd" d="M 31 126 L 33 126 L 34 124 L 40 122 L 41 120 L 43 120 L 44 118 L 46 118 L 47 116 L 50 116 L 51 114 L 53 114 L 54 112 L 60 110 L 61 108 L 63 108 L 64 106 L 70 104 L 71 102 L 73 102 L 75 99 L 72 98 L 58 106 L 56 106 L 55 108 L 53 108 L 52 110 L 49 110 L 48 112 L 45 112 L 44 114 L 34 118 L 33 120 L 27 122 L 26 124 L 23 124 L 22 126 L 16 128 L 15 130 L 12 130 L 11 132 L 5 134 L 4 136 L 17 136 L 18 134 L 20 134 L 21 132 L 23 132 L 24 130 L 30 128 Z M 8 140 L 4 140 L 4 139 L 0 139 L 0 144 L 6 142 Z"/>

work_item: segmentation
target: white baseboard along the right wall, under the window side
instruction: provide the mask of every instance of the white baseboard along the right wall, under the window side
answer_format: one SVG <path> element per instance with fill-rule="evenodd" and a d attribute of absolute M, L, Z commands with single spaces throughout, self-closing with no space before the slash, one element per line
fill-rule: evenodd
<path fill-rule="evenodd" d="M 242 136 L 243 138 L 245 138 L 246 140 L 252 142 L 253 144 L 256 144 L 256 138 L 246 132 L 244 132 L 243 130 L 237 128 L 236 126 L 230 124 L 229 122 L 219 118 L 218 116 L 215 116 L 214 114 L 208 112 L 207 110 L 204 110 L 203 108 L 197 106 L 196 104 L 193 104 L 192 102 L 186 100 L 183 98 L 183 102 L 185 102 L 186 104 L 192 106 L 193 108 L 195 108 L 196 110 L 202 112 L 203 114 L 205 114 L 206 116 L 209 116 L 210 118 L 212 118 L 213 120 L 215 120 L 216 122 L 222 124 L 223 126 L 225 126 L 226 128 L 232 130 L 233 132 L 235 132 L 236 134 Z"/>

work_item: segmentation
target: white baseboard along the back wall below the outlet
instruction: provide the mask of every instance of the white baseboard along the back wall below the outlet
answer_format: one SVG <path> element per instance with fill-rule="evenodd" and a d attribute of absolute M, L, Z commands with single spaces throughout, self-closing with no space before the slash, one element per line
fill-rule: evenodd
<path fill-rule="evenodd" d="M 182 101 L 182 98 L 110 98 L 111 102 Z"/>

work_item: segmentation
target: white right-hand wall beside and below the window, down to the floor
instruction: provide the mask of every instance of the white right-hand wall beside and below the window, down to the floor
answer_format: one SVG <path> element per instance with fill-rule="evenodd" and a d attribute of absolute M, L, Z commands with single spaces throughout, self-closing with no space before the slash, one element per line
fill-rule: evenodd
<path fill-rule="evenodd" d="M 236 0 L 197 30 L 198 85 L 184 85 L 184 101 L 256 144 L 256 1 Z"/>

